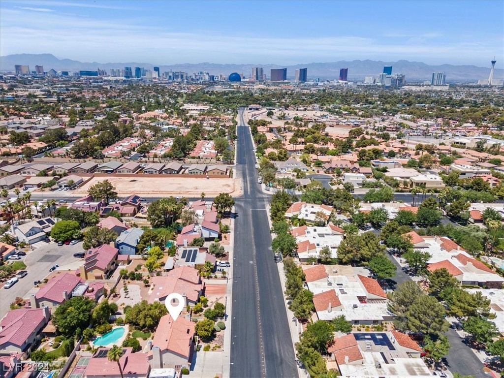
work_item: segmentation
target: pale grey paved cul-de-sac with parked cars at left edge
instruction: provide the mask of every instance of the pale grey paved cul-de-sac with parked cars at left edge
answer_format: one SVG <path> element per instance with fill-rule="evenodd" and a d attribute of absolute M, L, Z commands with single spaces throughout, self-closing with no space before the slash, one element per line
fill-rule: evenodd
<path fill-rule="evenodd" d="M 25 297 L 33 289 L 34 281 L 42 281 L 48 274 L 51 267 L 59 265 L 58 270 L 68 270 L 75 272 L 76 263 L 79 260 L 74 257 L 76 252 L 82 252 L 82 241 L 75 245 L 57 246 L 54 242 L 39 242 L 34 250 L 28 251 L 21 260 L 26 264 L 28 274 L 20 278 L 11 288 L 0 289 L 0 318 L 3 318 L 9 311 L 9 306 L 16 297 Z"/>

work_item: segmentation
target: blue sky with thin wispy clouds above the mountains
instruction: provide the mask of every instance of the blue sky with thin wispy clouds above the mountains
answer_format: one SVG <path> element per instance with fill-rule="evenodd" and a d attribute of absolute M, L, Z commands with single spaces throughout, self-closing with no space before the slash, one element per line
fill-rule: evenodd
<path fill-rule="evenodd" d="M 0 2 L 0 54 L 291 65 L 372 59 L 504 67 L 504 2 Z"/>

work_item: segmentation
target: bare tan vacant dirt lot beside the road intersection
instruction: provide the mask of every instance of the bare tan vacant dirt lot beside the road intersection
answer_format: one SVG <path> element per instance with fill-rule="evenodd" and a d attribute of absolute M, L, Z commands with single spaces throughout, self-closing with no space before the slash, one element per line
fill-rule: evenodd
<path fill-rule="evenodd" d="M 229 193 L 237 197 L 242 193 L 240 180 L 202 177 L 94 177 L 78 188 L 75 193 L 86 195 L 91 185 L 107 179 L 115 187 L 119 196 L 138 194 L 143 197 L 162 195 L 199 197 L 201 192 L 205 192 L 207 197 L 213 197 L 219 193 Z"/>

